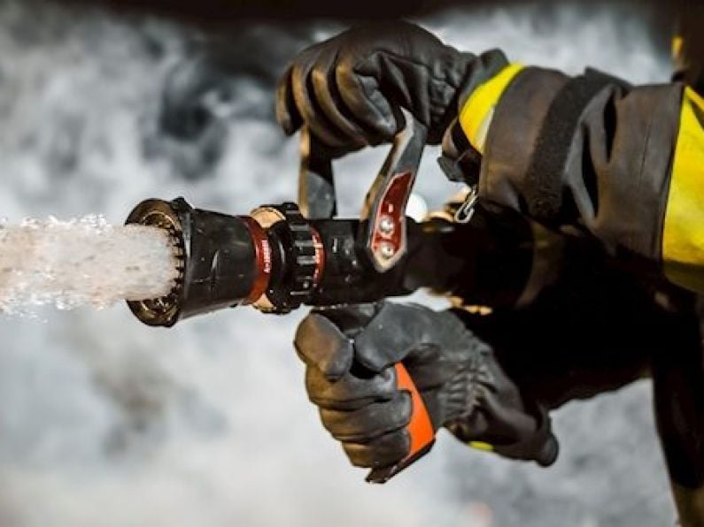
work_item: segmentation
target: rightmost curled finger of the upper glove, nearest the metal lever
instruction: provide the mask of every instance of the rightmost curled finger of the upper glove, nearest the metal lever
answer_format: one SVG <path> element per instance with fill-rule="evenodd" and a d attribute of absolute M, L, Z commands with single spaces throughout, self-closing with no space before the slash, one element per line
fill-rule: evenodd
<path fill-rule="evenodd" d="M 382 94 L 378 78 L 373 74 L 362 76 L 355 70 L 358 60 L 350 54 L 337 64 L 335 79 L 341 98 L 360 126 L 376 136 L 371 142 L 391 141 L 398 132 L 394 111 Z"/>

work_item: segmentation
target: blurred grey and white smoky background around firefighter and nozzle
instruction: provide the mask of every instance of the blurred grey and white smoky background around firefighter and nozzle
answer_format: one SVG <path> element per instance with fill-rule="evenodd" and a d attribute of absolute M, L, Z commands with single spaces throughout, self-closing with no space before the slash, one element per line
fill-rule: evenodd
<path fill-rule="evenodd" d="M 277 75 L 354 20 L 398 15 L 464 50 L 669 78 L 669 15 L 643 2 L 0 0 L 0 216 L 121 223 L 147 197 L 230 213 L 294 199 Z M 382 150 L 337 163 L 345 215 Z M 453 193 L 435 157 L 418 187 L 431 206 Z M 674 524 L 647 382 L 558 411 L 550 470 L 441 434 L 412 470 L 365 484 L 306 401 L 290 344 L 303 315 L 170 330 L 123 305 L 0 316 L 0 527 Z"/>

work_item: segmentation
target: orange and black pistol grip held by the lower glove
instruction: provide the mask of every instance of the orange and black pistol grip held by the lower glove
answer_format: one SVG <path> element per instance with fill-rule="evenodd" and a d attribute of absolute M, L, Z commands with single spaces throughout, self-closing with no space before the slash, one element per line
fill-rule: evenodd
<path fill-rule="evenodd" d="M 368 483 L 386 483 L 414 462 L 427 454 L 435 443 L 435 432 L 430 421 L 428 409 L 422 400 L 421 393 L 415 386 L 413 379 L 408 374 L 406 367 L 402 363 L 394 366 L 396 370 L 396 382 L 399 390 L 406 390 L 411 394 L 411 420 L 406 425 L 406 430 L 411 438 L 411 448 L 404 459 L 390 467 L 373 469 L 367 475 Z"/>

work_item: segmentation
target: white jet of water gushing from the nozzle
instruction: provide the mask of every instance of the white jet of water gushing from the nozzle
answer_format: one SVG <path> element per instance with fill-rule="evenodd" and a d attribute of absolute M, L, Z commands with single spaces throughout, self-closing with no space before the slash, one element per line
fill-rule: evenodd
<path fill-rule="evenodd" d="M 102 216 L 0 224 L 0 311 L 32 306 L 104 308 L 168 293 L 176 278 L 161 229 L 109 225 Z"/>

